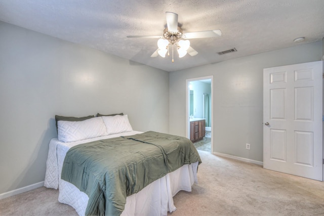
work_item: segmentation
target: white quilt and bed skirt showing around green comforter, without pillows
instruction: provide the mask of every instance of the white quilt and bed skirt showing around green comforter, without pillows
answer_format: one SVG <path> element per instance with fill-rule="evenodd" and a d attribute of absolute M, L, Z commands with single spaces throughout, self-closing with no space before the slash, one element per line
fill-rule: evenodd
<path fill-rule="evenodd" d="M 70 143 L 60 142 L 57 138 L 53 138 L 49 145 L 44 186 L 59 189 L 59 202 L 71 205 L 79 215 L 85 215 L 89 200 L 87 194 L 61 179 L 66 152 L 69 148 L 82 143 L 139 133 L 142 132 L 131 131 Z M 168 211 L 176 210 L 173 196 L 180 190 L 191 191 L 193 183 L 197 183 L 197 166 L 198 162 L 186 164 L 152 182 L 139 193 L 127 197 L 125 210 L 121 215 L 167 215 Z"/>

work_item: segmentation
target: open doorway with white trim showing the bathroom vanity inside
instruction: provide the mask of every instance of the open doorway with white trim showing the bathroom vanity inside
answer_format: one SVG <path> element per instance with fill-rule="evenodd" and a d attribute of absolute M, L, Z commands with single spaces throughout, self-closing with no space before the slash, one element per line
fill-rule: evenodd
<path fill-rule="evenodd" d="M 186 136 L 213 153 L 213 76 L 186 80 Z M 204 125 L 203 125 L 204 124 Z"/>

